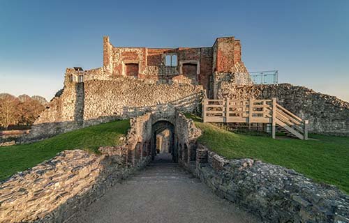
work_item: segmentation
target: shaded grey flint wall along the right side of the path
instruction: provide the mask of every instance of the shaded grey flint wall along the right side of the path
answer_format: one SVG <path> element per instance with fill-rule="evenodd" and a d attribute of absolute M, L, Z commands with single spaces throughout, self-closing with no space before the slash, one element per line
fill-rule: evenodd
<path fill-rule="evenodd" d="M 349 196 L 284 167 L 227 160 L 198 145 L 196 175 L 219 197 L 266 222 L 349 222 Z"/>

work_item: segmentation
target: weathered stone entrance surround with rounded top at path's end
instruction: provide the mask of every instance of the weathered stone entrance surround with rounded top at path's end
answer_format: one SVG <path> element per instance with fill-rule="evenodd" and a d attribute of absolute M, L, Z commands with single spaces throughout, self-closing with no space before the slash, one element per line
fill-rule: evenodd
<path fill-rule="evenodd" d="M 157 112 L 148 112 L 142 116 L 131 118 L 131 130 L 128 135 L 134 139 L 131 141 L 145 141 L 147 145 L 138 145 L 138 153 L 146 153 L 154 156 L 156 147 L 154 133 L 157 129 L 169 129 L 173 134 L 172 156 L 184 168 L 191 168 L 191 162 L 195 166 L 196 139 L 200 137 L 201 130 L 195 128 L 195 124 L 178 112 L 174 107 L 162 107 Z M 137 146 L 137 145 L 135 145 Z M 145 146 L 145 147 L 144 147 Z M 136 154 L 135 157 L 138 155 Z"/>

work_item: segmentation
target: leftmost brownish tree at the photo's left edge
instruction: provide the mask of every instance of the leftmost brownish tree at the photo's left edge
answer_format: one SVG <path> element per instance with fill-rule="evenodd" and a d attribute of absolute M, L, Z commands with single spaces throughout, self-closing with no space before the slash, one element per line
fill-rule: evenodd
<path fill-rule="evenodd" d="M 0 97 L 0 125 L 8 128 L 8 125 L 15 125 L 18 121 L 18 110 L 20 100 L 10 94 L 1 94 Z"/>

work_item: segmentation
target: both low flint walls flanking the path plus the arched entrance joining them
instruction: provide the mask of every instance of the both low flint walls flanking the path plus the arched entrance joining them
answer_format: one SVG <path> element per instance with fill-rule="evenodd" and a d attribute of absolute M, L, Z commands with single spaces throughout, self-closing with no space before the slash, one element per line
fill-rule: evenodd
<path fill-rule="evenodd" d="M 349 222 L 349 197 L 295 171 L 258 160 L 227 160 L 199 144 L 193 121 L 172 107 L 131 118 L 124 146 L 101 147 L 101 155 L 64 151 L 0 185 L 0 222 L 63 222 L 141 168 L 151 157 L 154 126 L 174 124 L 178 162 L 219 197 L 266 222 Z M 170 125 L 163 125 L 161 128 Z"/>

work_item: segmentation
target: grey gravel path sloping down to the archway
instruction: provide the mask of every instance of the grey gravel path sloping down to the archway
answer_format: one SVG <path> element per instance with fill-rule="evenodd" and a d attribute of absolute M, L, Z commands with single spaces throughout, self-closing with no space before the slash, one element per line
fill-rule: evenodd
<path fill-rule="evenodd" d="M 258 222 L 164 156 L 68 222 Z"/>

